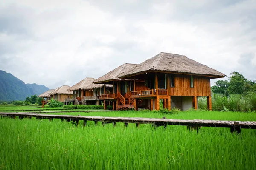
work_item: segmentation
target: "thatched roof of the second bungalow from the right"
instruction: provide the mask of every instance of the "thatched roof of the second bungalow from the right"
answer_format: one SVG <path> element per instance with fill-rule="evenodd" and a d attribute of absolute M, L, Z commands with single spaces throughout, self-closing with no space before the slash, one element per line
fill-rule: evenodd
<path fill-rule="evenodd" d="M 103 82 L 109 82 L 109 81 L 112 81 L 112 80 L 128 80 L 128 79 L 120 79 L 117 76 L 119 74 L 121 74 L 122 72 L 127 71 L 127 70 L 133 68 L 136 65 L 137 64 L 125 63 L 125 64 L 119 66 L 118 68 L 115 68 L 114 70 L 108 72 L 104 76 L 99 77 L 99 79 L 96 79 L 95 81 L 93 81 L 93 83 L 103 83 Z"/>

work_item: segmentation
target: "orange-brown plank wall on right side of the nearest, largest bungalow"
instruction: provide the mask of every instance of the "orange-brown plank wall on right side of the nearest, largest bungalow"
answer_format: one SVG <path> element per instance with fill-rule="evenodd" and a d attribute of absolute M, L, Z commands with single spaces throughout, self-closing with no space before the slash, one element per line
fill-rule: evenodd
<path fill-rule="evenodd" d="M 167 74 L 168 75 L 168 74 Z M 170 87 L 168 75 L 167 87 L 171 96 L 210 96 L 211 86 L 209 77 L 193 76 L 194 88 L 190 87 L 190 75 L 175 74 L 175 87 Z"/>

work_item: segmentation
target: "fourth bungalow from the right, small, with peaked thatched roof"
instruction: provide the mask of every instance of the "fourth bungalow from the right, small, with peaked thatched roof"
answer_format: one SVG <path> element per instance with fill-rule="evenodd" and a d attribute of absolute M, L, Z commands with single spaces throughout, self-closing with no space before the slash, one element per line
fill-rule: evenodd
<path fill-rule="evenodd" d="M 93 96 L 93 90 L 86 88 L 87 86 L 91 85 L 94 80 L 94 78 L 86 77 L 85 79 L 73 85 L 71 88 L 68 89 L 68 91 L 73 91 L 73 98 L 66 99 L 66 101 L 73 101 L 76 105 L 86 104 L 86 101 L 84 101 L 84 97 Z"/>

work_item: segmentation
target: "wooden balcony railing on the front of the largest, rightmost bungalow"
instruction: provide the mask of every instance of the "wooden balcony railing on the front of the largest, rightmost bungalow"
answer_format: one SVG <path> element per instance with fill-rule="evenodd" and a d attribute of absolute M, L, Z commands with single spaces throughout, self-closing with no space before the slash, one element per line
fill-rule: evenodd
<path fill-rule="evenodd" d="M 131 91 L 131 97 L 168 95 L 167 89 L 151 89 L 145 91 Z"/>

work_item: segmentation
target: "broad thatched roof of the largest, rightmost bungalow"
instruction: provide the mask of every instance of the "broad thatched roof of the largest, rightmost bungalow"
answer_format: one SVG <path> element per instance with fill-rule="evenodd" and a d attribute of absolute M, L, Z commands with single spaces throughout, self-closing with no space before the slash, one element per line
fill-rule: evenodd
<path fill-rule="evenodd" d="M 136 65 L 118 75 L 120 78 L 129 78 L 134 75 L 150 71 L 169 72 L 178 74 L 193 74 L 213 77 L 225 77 L 225 74 L 218 72 L 206 65 L 200 64 L 186 56 L 178 54 L 163 53 Z"/>

